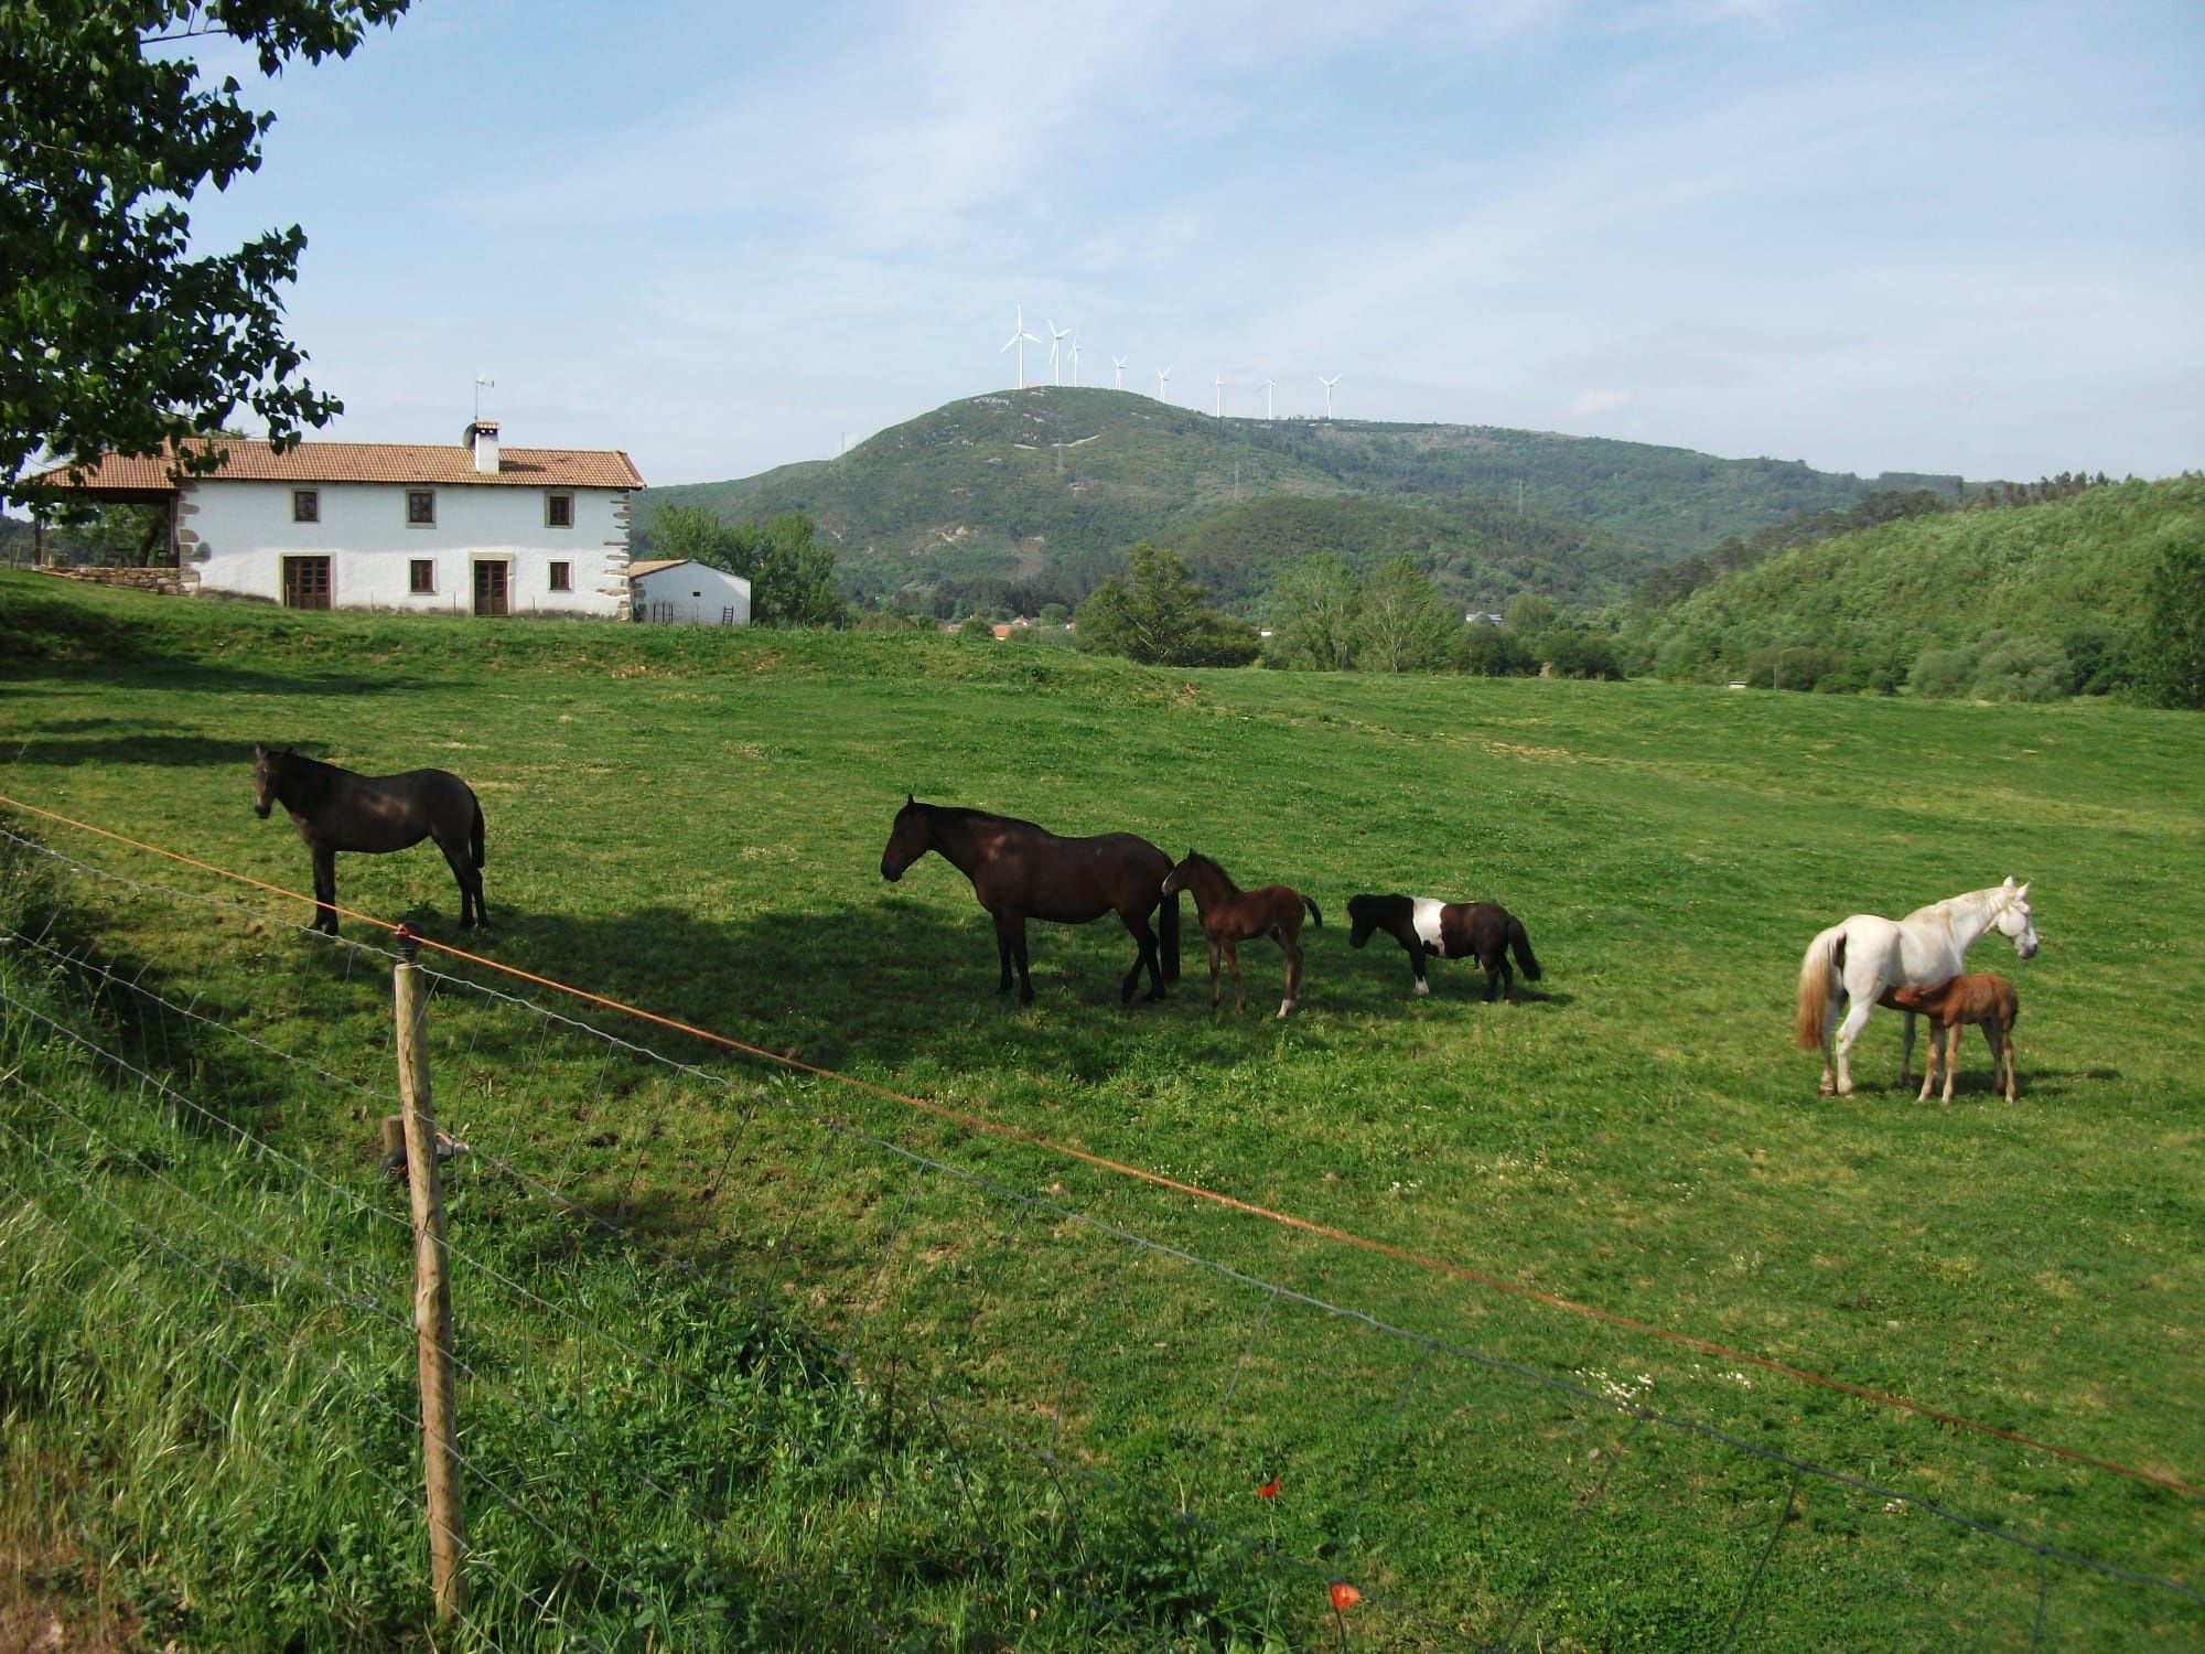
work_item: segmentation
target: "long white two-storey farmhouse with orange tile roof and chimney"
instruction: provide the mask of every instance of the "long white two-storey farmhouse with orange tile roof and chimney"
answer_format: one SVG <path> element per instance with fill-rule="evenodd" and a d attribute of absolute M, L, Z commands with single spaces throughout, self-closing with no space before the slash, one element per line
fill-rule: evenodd
<path fill-rule="evenodd" d="M 628 615 L 628 492 L 644 479 L 617 450 L 501 450 L 492 419 L 450 448 L 223 448 L 203 476 L 108 454 L 77 479 L 42 481 L 93 505 L 168 505 L 172 562 L 203 593 L 291 609 Z"/>

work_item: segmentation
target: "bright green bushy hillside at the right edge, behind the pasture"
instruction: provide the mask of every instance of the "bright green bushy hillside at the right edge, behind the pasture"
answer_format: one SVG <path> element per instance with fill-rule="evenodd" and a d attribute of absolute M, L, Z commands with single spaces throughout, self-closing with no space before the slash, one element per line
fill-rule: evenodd
<path fill-rule="evenodd" d="M 2161 549 L 2201 538 L 2198 476 L 1914 516 L 1727 573 L 1627 635 L 1671 677 L 1735 677 L 1757 651 L 1817 648 L 1890 684 L 1927 651 L 1993 631 L 2059 644 L 2086 668 L 2141 622 Z"/>

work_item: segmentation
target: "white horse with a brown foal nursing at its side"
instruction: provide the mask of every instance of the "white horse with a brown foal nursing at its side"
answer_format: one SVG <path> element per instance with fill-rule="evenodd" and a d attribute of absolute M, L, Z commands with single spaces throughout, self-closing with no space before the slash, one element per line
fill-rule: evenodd
<path fill-rule="evenodd" d="M 1967 950 L 1987 931 L 2013 942 L 2024 959 L 2037 950 L 2026 884 L 2009 878 L 1996 889 L 1954 895 L 1896 922 L 1854 913 L 1808 942 L 1799 964 L 1799 1050 L 1821 1045 L 1821 1094 L 1852 1096 L 1852 1045 L 1885 988 L 1951 981 L 1967 970 Z M 1837 1021 L 1841 1001 L 1850 1001 L 1843 1025 Z"/>

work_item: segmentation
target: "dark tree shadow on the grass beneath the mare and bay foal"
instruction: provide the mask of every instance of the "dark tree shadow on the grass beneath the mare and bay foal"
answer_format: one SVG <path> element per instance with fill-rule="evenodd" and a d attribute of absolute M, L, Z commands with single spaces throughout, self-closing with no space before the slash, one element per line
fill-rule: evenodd
<path fill-rule="evenodd" d="M 1233 1008 L 1228 979 L 1224 1006 L 1213 1014 L 1202 935 L 1184 924 L 1182 977 L 1169 997 L 1140 997 L 1144 975 L 1133 1003 L 1120 1006 L 1118 986 L 1133 964 L 1133 939 L 1116 920 L 1098 920 L 1030 926 L 1034 1003 L 1021 1006 L 1017 990 L 997 992 L 994 931 L 981 913 L 953 915 L 895 895 L 732 920 L 701 920 L 670 906 L 573 917 L 503 906 L 492 884 L 487 931 L 459 931 L 454 911 L 439 895 L 404 917 L 467 953 L 778 1056 L 873 1076 L 911 1074 L 922 1087 L 948 1074 L 1094 1085 L 1133 1070 L 1224 1070 L 1272 1050 L 1286 1034 L 1301 1052 L 1319 1056 L 1360 1050 L 1369 1021 L 1391 1021 L 1418 1006 L 1508 1017 L 1550 1014 L 1570 1003 L 1570 995 L 1519 990 L 1524 1003 L 1515 1008 L 1484 1006 L 1477 1001 L 1482 979 L 1449 984 L 1453 992 L 1442 988 L 1418 1001 L 1396 981 L 1398 962 L 1394 970 L 1369 968 L 1347 953 L 1345 933 L 1338 939 L 1303 933 L 1310 964 L 1301 1008 L 1290 1019 L 1272 1014 L 1286 962 L 1268 944 L 1241 950 L 1248 1010 Z M 359 926 L 346 933 L 359 935 Z M 434 964 L 434 950 L 423 957 Z M 578 1006 L 536 986 L 496 981 L 476 968 L 450 968 L 679 1061 L 725 1059 L 723 1048 L 677 1030 Z"/>

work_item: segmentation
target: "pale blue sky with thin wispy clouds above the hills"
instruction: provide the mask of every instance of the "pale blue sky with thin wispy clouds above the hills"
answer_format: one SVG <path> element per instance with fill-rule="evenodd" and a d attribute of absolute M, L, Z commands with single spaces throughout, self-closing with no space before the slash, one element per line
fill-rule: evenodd
<path fill-rule="evenodd" d="M 260 84 L 331 437 L 653 483 L 1012 382 L 1824 470 L 2205 465 L 2205 7 L 417 0 Z M 1028 377 L 1047 373 L 1028 346 Z"/>

